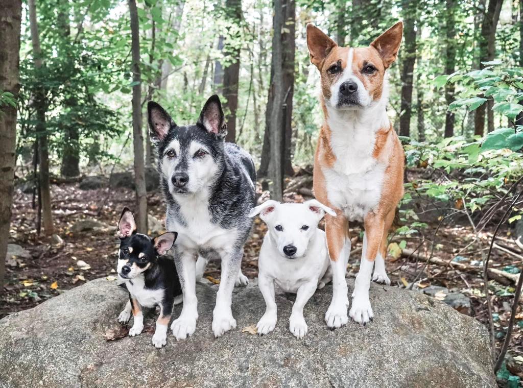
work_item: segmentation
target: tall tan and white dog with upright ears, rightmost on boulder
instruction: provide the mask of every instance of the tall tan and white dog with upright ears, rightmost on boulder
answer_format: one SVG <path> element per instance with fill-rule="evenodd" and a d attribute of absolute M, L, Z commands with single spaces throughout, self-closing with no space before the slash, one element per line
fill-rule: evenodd
<path fill-rule="evenodd" d="M 399 22 L 369 47 L 339 47 L 319 28 L 307 26 L 311 62 L 320 71 L 325 116 L 314 157 L 314 193 L 337 214 L 325 217 L 333 269 L 333 299 L 325 321 L 333 328 L 348 321 L 344 258 L 350 252 L 349 221 L 365 224 L 349 311 L 354 321 L 365 324 L 373 317 L 371 278 L 390 284 L 384 258 L 388 231 L 403 197 L 404 153 L 386 113 L 385 72 L 396 60 L 402 36 Z"/>

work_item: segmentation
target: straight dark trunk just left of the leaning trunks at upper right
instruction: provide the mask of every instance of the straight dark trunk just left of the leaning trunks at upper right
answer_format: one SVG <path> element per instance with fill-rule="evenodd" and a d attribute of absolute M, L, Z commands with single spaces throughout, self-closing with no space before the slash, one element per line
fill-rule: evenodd
<path fill-rule="evenodd" d="M 445 29 L 447 30 L 445 74 L 452 74 L 456 66 L 456 3 L 454 0 L 446 0 Z M 447 106 L 454 101 L 454 84 L 447 82 L 445 85 L 445 100 Z M 454 136 L 454 112 L 447 110 L 445 116 L 445 137 Z"/>

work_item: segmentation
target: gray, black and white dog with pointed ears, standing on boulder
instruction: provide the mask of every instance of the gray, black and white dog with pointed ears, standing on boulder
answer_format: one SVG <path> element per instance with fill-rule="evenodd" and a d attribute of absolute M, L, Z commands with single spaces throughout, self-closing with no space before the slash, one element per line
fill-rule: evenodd
<path fill-rule="evenodd" d="M 147 104 L 147 112 L 167 204 L 166 229 L 178 233 L 175 260 L 184 305 L 170 328 L 176 339 L 195 332 L 196 278 L 207 259 L 220 258 L 221 281 L 212 320 L 214 336 L 219 337 L 236 327 L 232 291 L 235 281 L 247 281 L 240 265 L 252 227 L 249 211 L 256 205 L 254 163 L 240 147 L 225 143 L 227 127 L 217 95 L 207 100 L 196 125 L 176 125 L 153 101 Z"/>

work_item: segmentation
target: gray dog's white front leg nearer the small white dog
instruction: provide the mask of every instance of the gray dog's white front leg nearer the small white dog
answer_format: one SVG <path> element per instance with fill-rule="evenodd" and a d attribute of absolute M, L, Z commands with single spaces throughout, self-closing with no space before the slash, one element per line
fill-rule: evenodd
<path fill-rule="evenodd" d="M 212 313 L 212 331 L 218 338 L 225 332 L 236 327 L 236 319 L 232 316 L 232 290 L 242 264 L 242 251 L 225 254 L 222 257 L 222 273 L 220 287 L 216 294 L 216 305 Z"/>

